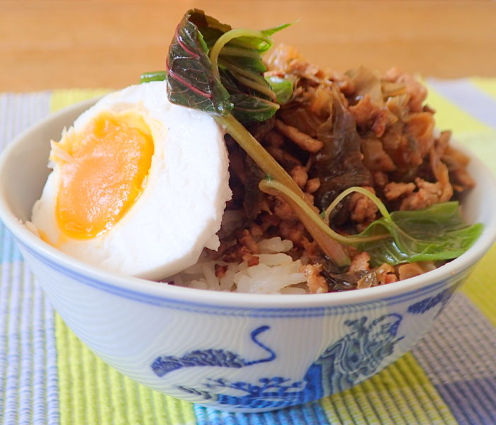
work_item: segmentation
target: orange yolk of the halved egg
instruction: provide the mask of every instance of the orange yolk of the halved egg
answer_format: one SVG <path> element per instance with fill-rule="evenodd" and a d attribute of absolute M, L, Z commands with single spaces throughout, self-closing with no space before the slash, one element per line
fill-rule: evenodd
<path fill-rule="evenodd" d="M 96 237 L 128 212 L 145 187 L 154 152 L 150 127 L 135 112 L 101 113 L 56 147 L 57 223 L 68 237 Z"/>

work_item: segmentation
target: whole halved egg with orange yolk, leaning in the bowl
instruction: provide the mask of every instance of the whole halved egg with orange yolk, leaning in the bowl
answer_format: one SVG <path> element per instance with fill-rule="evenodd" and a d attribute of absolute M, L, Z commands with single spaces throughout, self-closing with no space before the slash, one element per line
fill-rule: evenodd
<path fill-rule="evenodd" d="M 45 242 L 107 271 L 158 280 L 217 249 L 231 198 L 223 132 L 167 99 L 164 81 L 109 94 L 51 142 L 31 222 Z"/>

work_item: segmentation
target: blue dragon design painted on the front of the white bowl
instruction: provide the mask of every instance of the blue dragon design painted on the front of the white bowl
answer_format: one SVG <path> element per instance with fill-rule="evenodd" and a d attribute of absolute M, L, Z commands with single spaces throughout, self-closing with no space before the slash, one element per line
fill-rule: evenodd
<path fill-rule="evenodd" d="M 346 390 L 375 373 L 383 359 L 393 354 L 395 344 L 403 338 L 397 336 L 401 321 L 402 315 L 398 313 L 384 314 L 371 322 L 366 316 L 346 320 L 344 324 L 351 329 L 349 333 L 329 346 L 310 365 L 302 380 L 294 381 L 282 376 L 259 378 L 256 382 L 208 378 L 202 390 L 179 388 L 203 397 L 205 401 L 239 408 L 278 408 L 319 399 Z M 273 361 L 276 353 L 257 339 L 259 334 L 269 329 L 268 326 L 257 327 L 251 334 L 254 344 L 263 348 L 269 356 L 248 361 L 231 351 L 196 350 L 181 358 L 158 357 L 151 365 L 152 370 L 158 376 L 164 376 L 186 367 L 243 368 Z M 233 392 L 236 395 L 232 395 Z"/>

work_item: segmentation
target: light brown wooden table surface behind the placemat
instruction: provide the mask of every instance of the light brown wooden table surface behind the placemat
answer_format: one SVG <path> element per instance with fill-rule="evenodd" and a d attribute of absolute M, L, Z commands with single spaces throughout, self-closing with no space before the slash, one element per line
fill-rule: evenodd
<path fill-rule="evenodd" d="M 233 27 L 297 21 L 276 41 L 344 71 L 496 77 L 496 2 L 0 0 L 0 91 L 119 88 L 164 69 L 176 23 L 203 8 Z"/>

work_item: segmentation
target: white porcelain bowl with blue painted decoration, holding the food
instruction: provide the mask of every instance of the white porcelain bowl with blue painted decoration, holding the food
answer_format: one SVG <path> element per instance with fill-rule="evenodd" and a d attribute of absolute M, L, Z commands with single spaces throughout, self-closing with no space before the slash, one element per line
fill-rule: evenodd
<path fill-rule="evenodd" d="M 252 295 L 179 288 L 101 271 L 21 224 L 49 170 L 50 139 L 94 101 L 23 133 L 0 162 L 0 217 L 67 325 L 97 356 L 168 395 L 260 412 L 319 399 L 378 373 L 431 327 L 496 237 L 495 179 L 478 159 L 463 200 L 484 232 L 466 254 L 398 283 L 322 295 Z"/>

